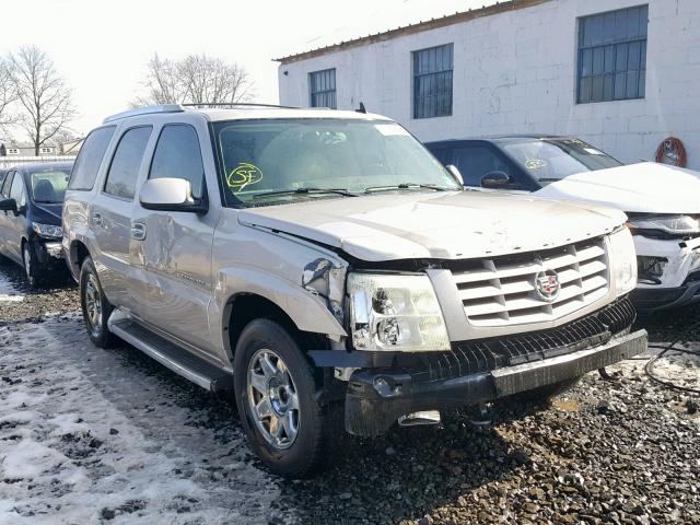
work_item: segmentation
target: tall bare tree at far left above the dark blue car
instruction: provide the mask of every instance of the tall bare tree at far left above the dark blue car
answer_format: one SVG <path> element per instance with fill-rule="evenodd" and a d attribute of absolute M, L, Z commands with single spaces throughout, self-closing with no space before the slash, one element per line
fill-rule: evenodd
<path fill-rule="evenodd" d="M 71 90 L 54 61 L 36 46 L 10 54 L 11 75 L 20 105 L 19 124 L 34 145 L 34 154 L 68 127 L 75 115 Z"/>

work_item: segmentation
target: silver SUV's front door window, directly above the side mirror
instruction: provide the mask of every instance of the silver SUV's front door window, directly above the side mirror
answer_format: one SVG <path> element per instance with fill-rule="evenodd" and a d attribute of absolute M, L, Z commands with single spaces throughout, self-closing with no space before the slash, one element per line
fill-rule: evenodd
<path fill-rule="evenodd" d="M 186 124 L 163 128 L 158 139 L 149 178 L 184 178 L 192 185 L 192 197 L 203 195 L 205 165 L 201 161 L 197 131 Z"/>

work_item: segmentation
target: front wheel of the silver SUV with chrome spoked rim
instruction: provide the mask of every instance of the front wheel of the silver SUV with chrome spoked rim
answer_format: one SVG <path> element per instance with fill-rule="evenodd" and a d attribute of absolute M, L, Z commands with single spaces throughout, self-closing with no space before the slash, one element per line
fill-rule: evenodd
<path fill-rule="evenodd" d="M 256 319 L 243 329 L 234 355 L 236 406 L 253 450 L 272 472 L 305 478 L 331 465 L 342 412 L 319 406 L 315 393 L 313 368 L 284 328 Z"/>

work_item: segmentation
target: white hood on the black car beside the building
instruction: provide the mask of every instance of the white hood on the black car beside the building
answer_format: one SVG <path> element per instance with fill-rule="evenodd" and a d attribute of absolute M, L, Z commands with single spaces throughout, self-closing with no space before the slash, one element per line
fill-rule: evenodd
<path fill-rule="evenodd" d="M 570 175 L 535 195 L 637 213 L 700 213 L 700 173 L 643 162 Z"/>

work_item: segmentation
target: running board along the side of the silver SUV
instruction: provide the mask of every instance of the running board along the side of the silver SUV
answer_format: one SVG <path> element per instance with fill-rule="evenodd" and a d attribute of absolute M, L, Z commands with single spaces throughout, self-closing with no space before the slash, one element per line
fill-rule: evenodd
<path fill-rule="evenodd" d="M 128 318 L 109 323 L 109 330 L 173 372 L 210 392 L 231 390 L 233 374 L 174 345 Z"/>

